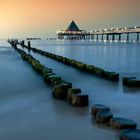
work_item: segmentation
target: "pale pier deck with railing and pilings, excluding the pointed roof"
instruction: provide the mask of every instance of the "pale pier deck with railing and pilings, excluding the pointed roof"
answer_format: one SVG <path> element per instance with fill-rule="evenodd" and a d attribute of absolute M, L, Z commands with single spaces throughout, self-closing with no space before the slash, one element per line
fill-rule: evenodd
<path fill-rule="evenodd" d="M 136 41 L 140 40 L 140 27 L 125 27 L 125 28 L 116 28 L 116 29 L 103 29 L 103 30 L 95 30 L 95 31 L 81 31 L 81 32 L 67 32 L 67 31 L 59 31 L 58 39 L 76 39 L 76 40 L 86 40 L 86 39 L 96 39 L 99 40 L 99 36 L 101 36 L 101 40 L 109 40 L 109 37 L 112 36 L 112 40 L 116 40 L 116 36 L 119 35 L 117 40 L 122 39 L 122 34 L 126 34 L 126 40 L 130 40 L 130 34 L 136 34 Z M 106 38 L 104 37 L 106 36 Z"/>

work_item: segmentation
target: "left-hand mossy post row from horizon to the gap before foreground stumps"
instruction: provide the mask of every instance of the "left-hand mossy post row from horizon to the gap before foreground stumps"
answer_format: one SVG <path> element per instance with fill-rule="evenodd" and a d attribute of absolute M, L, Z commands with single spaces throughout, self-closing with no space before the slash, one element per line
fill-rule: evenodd
<path fill-rule="evenodd" d="M 73 89 L 72 83 L 57 76 L 51 68 L 45 67 L 33 56 L 17 48 L 16 41 L 8 41 L 11 46 L 27 61 L 32 68 L 42 75 L 44 81 L 52 86 L 52 96 L 55 99 L 65 100 L 73 106 L 84 107 L 88 105 L 88 95 L 82 94 L 81 89 Z"/>

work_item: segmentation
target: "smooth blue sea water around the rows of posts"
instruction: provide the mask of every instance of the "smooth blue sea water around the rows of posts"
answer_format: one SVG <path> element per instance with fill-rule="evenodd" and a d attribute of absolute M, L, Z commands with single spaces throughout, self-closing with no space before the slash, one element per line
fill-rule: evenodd
<path fill-rule="evenodd" d="M 6 40 L 0 40 L 1 140 L 118 140 L 119 131 L 95 123 L 94 104 L 106 105 L 114 117 L 132 119 L 140 127 L 140 88 L 122 86 L 124 76 L 140 78 L 139 42 L 42 39 L 31 40 L 31 46 L 117 72 L 120 80 L 107 81 L 24 49 L 89 95 L 88 107 L 73 107 L 54 100 L 43 78 Z"/>

